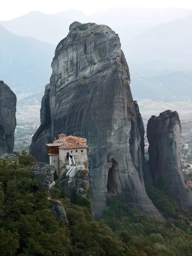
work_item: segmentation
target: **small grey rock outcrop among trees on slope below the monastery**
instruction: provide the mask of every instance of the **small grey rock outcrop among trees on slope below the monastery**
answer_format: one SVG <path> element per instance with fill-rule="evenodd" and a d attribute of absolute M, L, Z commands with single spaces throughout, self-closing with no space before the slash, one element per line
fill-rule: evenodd
<path fill-rule="evenodd" d="M 60 201 L 51 200 L 51 211 L 56 215 L 57 220 L 63 220 L 65 225 L 68 226 L 67 215 Z"/>

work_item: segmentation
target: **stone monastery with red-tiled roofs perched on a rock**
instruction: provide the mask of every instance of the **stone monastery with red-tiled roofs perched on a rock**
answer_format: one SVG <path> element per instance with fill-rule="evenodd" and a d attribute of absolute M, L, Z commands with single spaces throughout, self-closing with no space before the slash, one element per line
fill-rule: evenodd
<path fill-rule="evenodd" d="M 58 177 L 61 177 L 66 166 L 83 165 L 87 162 L 87 139 L 66 134 L 58 135 L 58 140 L 47 144 L 49 164 L 55 167 Z"/>

